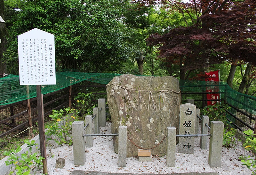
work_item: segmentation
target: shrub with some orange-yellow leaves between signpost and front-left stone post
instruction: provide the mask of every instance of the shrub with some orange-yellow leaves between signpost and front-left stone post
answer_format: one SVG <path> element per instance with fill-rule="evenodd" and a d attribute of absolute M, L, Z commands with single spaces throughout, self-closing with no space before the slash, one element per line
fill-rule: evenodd
<path fill-rule="evenodd" d="M 53 123 L 46 125 L 48 130 L 45 134 L 55 136 L 54 140 L 58 144 L 72 145 L 71 125 L 74 120 L 77 120 L 75 117 L 77 114 L 76 109 L 70 108 L 60 109 L 60 111 L 52 110 L 52 115 L 49 117 L 52 118 Z M 52 140 L 52 137 L 49 137 L 48 140 Z"/>

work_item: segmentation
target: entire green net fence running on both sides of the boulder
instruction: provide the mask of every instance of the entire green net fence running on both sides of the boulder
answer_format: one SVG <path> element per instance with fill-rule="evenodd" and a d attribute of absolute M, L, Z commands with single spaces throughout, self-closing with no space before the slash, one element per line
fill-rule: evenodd
<path fill-rule="evenodd" d="M 108 84 L 113 77 L 121 74 L 104 73 L 83 73 L 83 72 L 58 72 L 56 73 L 56 85 L 42 85 L 42 94 L 66 88 L 70 85 L 82 81 L 90 81 L 99 84 Z M 244 113 L 256 115 L 256 97 L 238 93 L 231 89 L 226 82 L 205 82 L 180 80 L 180 90 L 182 93 L 193 93 L 187 98 L 202 100 L 202 93 L 207 89 L 218 91 L 220 99 L 224 99 L 228 104 L 234 106 Z M 184 97 L 184 95 L 182 95 Z M 36 85 L 20 85 L 19 76 L 9 75 L 0 78 L 0 106 L 36 97 Z M 196 105 L 197 106 L 197 105 Z M 237 115 L 237 110 L 230 109 L 230 113 Z M 255 118 L 251 118 L 255 120 Z M 249 119 L 249 120 L 251 120 Z M 231 119 L 233 120 L 233 119 Z M 235 122 L 235 121 L 234 121 Z"/>

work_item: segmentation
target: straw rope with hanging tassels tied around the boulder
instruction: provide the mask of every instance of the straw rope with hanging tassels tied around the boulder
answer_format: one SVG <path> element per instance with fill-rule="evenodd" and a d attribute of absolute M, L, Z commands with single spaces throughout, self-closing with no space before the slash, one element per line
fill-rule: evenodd
<path fill-rule="evenodd" d="M 176 92 L 176 91 L 173 91 L 173 90 L 157 90 L 157 91 L 147 91 L 147 90 L 137 90 L 137 89 L 131 89 L 131 88 L 127 88 L 127 87 L 123 87 L 123 86 L 120 86 L 120 85 L 117 85 L 117 84 L 107 84 L 107 86 L 110 86 L 110 85 L 113 85 L 113 87 L 111 88 L 111 91 L 110 91 L 110 94 L 108 96 L 108 103 L 114 103 L 115 101 L 115 98 L 114 98 L 114 93 L 115 93 L 115 90 L 118 89 L 117 87 L 120 87 L 122 89 L 124 89 L 124 109 L 126 110 L 127 109 L 127 102 L 130 106 L 130 109 L 132 108 L 132 103 L 131 103 L 131 100 L 130 100 L 130 97 L 129 97 L 129 93 L 127 90 L 129 91 L 139 91 L 139 100 L 140 100 L 140 110 L 142 109 L 142 103 L 144 104 L 144 106 L 146 107 L 147 111 L 149 111 L 149 108 L 150 109 L 154 109 L 155 112 L 156 112 L 156 103 L 155 103 L 155 100 L 154 100 L 154 97 L 153 97 L 153 94 L 152 92 L 159 92 L 159 110 L 161 108 L 161 97 L 163 98 L 163 104 L 164 104 L 164 107 L 165 105 L 168 107 L 169 105 L 172 107 L 169 99 L 167 98 L 166 94 L 168 93 L 172 93 L 177 104 L 180 103 L 180 100 L 179 98 L 176 98 L 175 97 L 175 94 L 177 94 L 177 96 L 180 94 L 180 91 L 179 92 Z M 149 96 L 148 96 L 148 106 L 145 104 L 145 101 L 144 99 L 142 98 L 141 96 L 141 92 L 148 92 L 149 93 Z M 158 97 L 156 96 L 156 97 Z M 152 108 L 151 108 L 152 107 Z"/>

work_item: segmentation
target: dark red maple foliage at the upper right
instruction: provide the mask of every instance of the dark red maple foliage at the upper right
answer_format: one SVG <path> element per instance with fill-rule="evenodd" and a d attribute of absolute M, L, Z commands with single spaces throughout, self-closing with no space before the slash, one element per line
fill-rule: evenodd
<path fill-rule="evenodd" d="M 252 31 L 255 31 L 256 9 L 253 0 L 194 1 L 188 4 L 190 6 L 175 4 L 196 14 L 196 19 L 191 18 L 193 25 L 154 35 L 149 38 L 149 43 L 159 45 L 161 57 L 180 65 L 180 79 L 185 79 L 189 70 L 236 58 L 237 55 L 239 60 L 249 61 L 249 55 L 255 53 Z"/>

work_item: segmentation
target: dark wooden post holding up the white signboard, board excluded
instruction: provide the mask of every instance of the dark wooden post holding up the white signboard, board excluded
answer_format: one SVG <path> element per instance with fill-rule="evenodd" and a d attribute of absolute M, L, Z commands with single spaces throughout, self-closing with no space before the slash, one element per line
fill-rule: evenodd
<path fill-rule="evenodd" d="M 43 162 L 43 173 L 48 174 L 47 170 L 47 155 L 45 147 L 45 133 L 44 133 L 44 102 L 43 94 L 41 94 L 41 85 L 36 85 L 37 95 L 37 113 L 38 113 L 38 127 L 39 127 L 39 140 L 40 140 L 40 152 L 41 156 L 44 157 Z"/>

